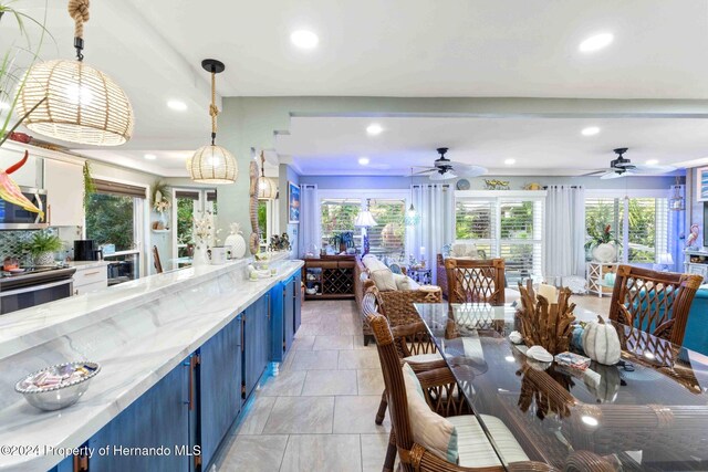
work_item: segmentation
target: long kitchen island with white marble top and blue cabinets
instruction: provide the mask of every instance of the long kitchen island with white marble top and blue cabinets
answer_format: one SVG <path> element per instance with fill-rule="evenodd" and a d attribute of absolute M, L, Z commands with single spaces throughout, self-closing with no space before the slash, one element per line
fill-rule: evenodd
<path fill-rule="evenodd" d="M 92 471 L 206 470 L 299 326 L 302 261 L 281 255 L 277 275 L 256 282 L 247 264 L 173 271 L 0 316 L 0 445 L 11 448 L 0 470 L 64 471 L 74 461 Z M 102 366 L 76 405 L 45 412 L 14 392 L 27 374 L 69 360 Z"/>

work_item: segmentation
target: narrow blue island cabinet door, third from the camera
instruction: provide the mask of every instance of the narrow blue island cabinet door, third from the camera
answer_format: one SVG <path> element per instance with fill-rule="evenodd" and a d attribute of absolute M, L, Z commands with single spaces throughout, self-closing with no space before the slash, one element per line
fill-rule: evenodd
<path fill-rule="evenodd" d="M 270 293 L 261 296 L 243 313 L 244 398 L 253 391 L 270 357 Z"/>

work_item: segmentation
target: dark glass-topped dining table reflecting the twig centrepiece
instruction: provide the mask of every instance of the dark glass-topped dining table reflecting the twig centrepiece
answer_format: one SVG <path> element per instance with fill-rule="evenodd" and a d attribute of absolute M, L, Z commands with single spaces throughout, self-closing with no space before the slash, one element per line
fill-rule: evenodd
<path fill-rule="evenodd" d="M 708 470 L 708 357 L 606 321 L 620 338 L 616 365 L 541 363 L 509 335 L 517 307 L 415 305 L 504 469 L 485 424 L 501 419 L 534 461 L 559 470 Z M 597 319 L 575 308 L 577 322 Z"/>

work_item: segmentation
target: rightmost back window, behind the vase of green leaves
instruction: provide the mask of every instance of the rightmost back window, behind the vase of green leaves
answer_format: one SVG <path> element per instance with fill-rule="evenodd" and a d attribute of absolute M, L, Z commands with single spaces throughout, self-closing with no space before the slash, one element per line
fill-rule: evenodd
<path fill-rule="evenodd" d="M 620 241 L 620 261 L 655 263 L 668 247 L 668 200 L 644 196 L 586 198 L 585 231 L 589 240 L 607 225 Z M 592 258 L 590 252 L 587 258 Z"/>

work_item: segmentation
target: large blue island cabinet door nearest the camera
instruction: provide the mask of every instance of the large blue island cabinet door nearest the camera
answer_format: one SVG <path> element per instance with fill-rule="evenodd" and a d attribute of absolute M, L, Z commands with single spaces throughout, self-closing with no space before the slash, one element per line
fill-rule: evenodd
<path fill-rule="evenodd" d="M 94 454 L 88 460 L 90 470 L 188 472 L 194 464 L 194 457 L 187 455 L 194 452 L 189 445 L 190 373 L 187 359 L 94 434 L 88 447 L 107 447 L 110 453 Z M 194 391 L 191 399 L 194 405 Z M 140 455 L 126 449 L 160 447 L 169 455 Z"/>

